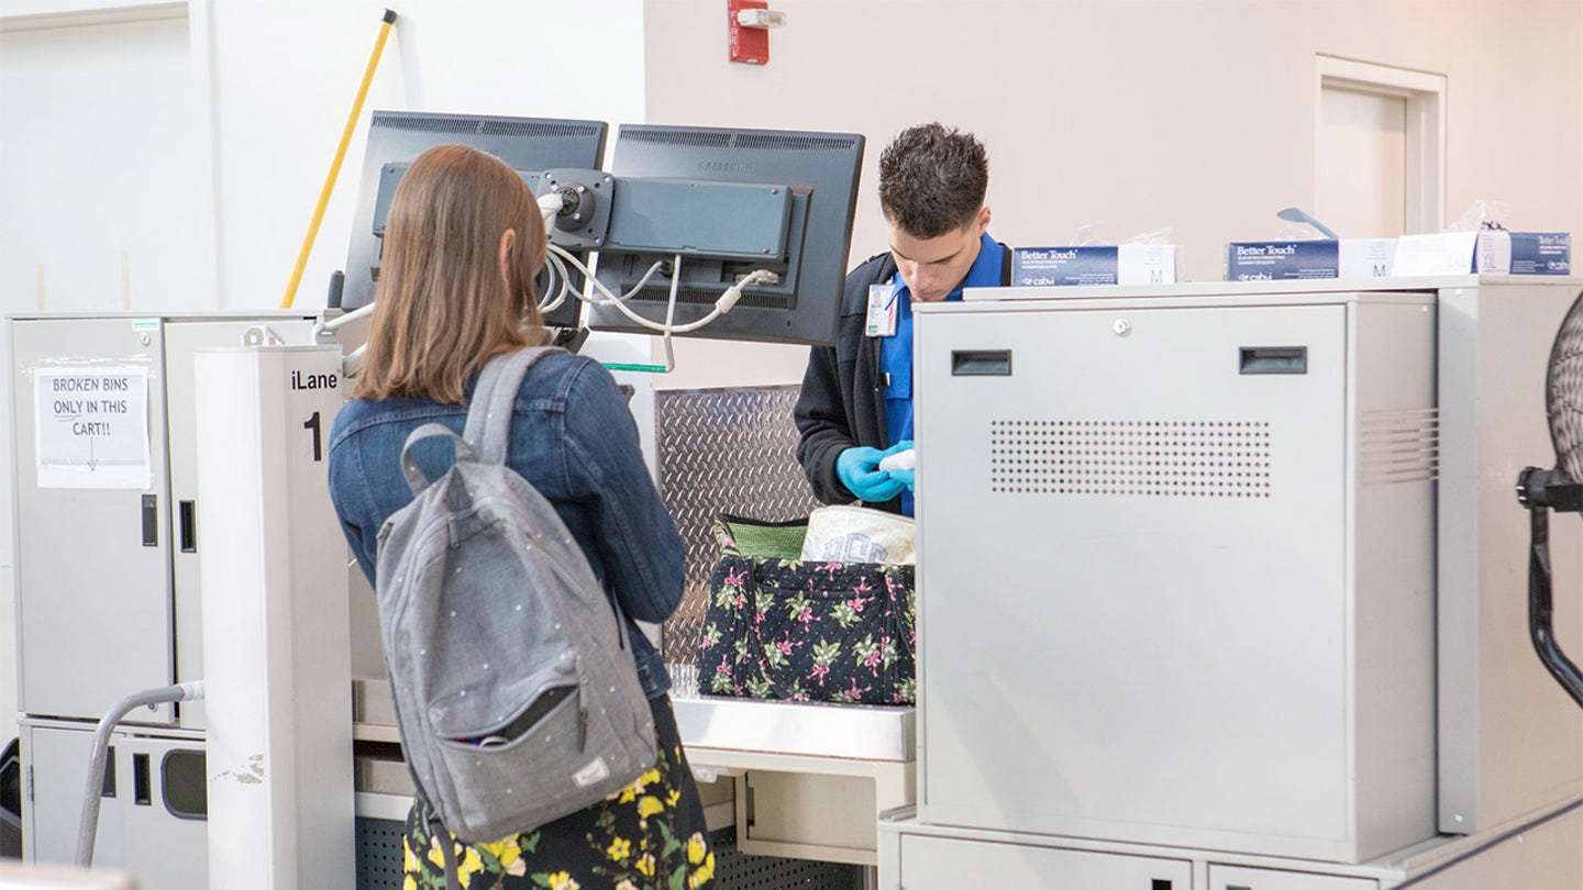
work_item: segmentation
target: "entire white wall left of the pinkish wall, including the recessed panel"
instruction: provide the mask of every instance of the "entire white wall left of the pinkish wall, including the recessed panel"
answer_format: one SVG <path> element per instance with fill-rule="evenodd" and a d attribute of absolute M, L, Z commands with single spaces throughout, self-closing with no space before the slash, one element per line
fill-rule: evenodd
<path fill-rule="evenodd" d="M 47 290 L 55 290 L 55 279 L 65 279 L 62 288 L 84 279 L 93 293 L 111 295 L 108 302 L 78 298 L 71 307 L 119 309 L 119 252 L 103 263 L 95 258 L 54 268 L 62 257 L 82 257 L 82 242 L 92 242 L 84 231 L 100 228 L 160 239 L 160 268 L 185 269 L 179 287 L 166 287 L 171 276 L 155 279 L 160 287 L 150 288 L 147 301 L 135 295 L 136 306 L 279 304 L 383 11 L 383 5 L 361 0 L 0 0 L 0 30 L 8 35 L 0 60 L 6 74 L 0 127 L 9 135 L 8 165 L 30 171 L 25 179 L 8 179 L 25 192 L 6 192 L 0 306 L 16 309 L 24 301 L 32 307 L 35 268 L 47 260 Z M 313 242 L 298 306 L 323 306 L 331 271 L 345 264 L 372 109 L 609 122 L 644 117 L 638 0 L 602 0 L 597 6 L 576 0 L 412 0 L 399 13 Z M 190 36 L 173 30 L 184 19 Z M 43 25 L 49 30 L 22 30 Z M 185 74 L 187 81 L 150 84 L 152 74 Z M 122 101 L 117 93 L 128 90 L 136 95 Z M 119 168 L 84 163 L 97 155 L 66 144 L 59 127 L 49 127 L 52 112 L 90 108 L 87 98 L 108 111 L 101 143 L 87 147 L 114 150 L 123 158 Z M 122 105 L 154 108 L 163 119 L 117 117 Z M 161 147 L 176 143 L 168 136 L 173 120 L 198 127 L 182 139 L 180 152 L 160 155 L 144 147 L 150 135 L 163 138 Z M 106 206 L 106 192 L 128 198 Z M 174 214 L 185 228 L 161 223 L 160 214 Z M 188 238 L 188 230 L 196 233 Z M 136 260 L 133 272 L 139 274 Z M 62 293 L 87 293 L 89 287 Z"/>

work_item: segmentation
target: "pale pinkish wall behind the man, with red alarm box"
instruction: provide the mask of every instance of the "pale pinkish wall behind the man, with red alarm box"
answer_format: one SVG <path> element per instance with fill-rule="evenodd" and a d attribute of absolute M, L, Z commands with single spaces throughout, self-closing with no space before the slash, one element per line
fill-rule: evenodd
<path fill-rule="evenodd" d="M 1447 214 L 1583 233 L 1577 0 L 773 0 L 766 67 L 727 60 L 723 3 L 646 0 L 651 122 L 869 136 L 852 264 L 885 249 L 880 149 L 942 120 L 989 149 L 991 233 L 1173 226 L 1186 274 L 1314 207 L 1315 55 L 1448 78 Z"/>

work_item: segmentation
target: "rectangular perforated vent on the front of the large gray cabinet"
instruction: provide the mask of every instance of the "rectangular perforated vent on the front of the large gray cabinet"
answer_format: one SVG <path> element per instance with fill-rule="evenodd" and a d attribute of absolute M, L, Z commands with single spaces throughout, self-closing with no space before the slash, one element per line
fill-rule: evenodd
<path fill-rule="evenodd" d="M 1008 494 L 1270 497 L 1260 420 L 993 420 L 989 489 Z"/>

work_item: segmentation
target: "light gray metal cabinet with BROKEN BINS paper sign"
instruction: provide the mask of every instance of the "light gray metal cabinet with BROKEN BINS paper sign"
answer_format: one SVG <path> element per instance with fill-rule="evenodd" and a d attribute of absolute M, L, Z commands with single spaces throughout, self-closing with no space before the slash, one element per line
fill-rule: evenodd
<path fill-rule="evenodd" d="M 260 326 L 283 342 L 307 344 L 312 325 L 309 315 L 269 312 L 9 320 L 24 714 L 98 719 L 130 692 L 203 678 L 193 353 L 241 345 Z M 40 462 L 51 445 L 38 421 L 59 423 L 62 412 L 40 380 L 104 367 L 144 375 L 146 416 L 114 420 L 131 423 L 135 434 L 146 431 L 147 485 L 41 485 Z M 201 703 L 139 709 L 128 721 L 204 725 Z"/>

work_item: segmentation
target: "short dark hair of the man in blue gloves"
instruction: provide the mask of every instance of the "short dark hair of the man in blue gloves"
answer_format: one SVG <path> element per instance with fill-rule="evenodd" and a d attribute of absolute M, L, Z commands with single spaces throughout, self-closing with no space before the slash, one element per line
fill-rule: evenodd
<path fill-rule="evenodd" d="M 985 206 L 988 188 L 983 143 L 955 127 L 909 127 L 880 154 L 880 207 L 913 238 L 964 228 Z"/>

